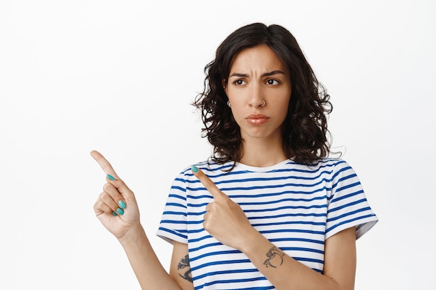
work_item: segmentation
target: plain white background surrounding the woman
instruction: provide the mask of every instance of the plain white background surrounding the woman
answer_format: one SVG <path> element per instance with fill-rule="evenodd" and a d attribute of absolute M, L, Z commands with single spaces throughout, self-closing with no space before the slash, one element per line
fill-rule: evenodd
<path fill-rule="evenodd" d="M 380 222 L 356 289 L 433 289 L 433 1 L 0 2 L 0 289 L 139 289 L 95 218 L 99 150 L 157 238 L 174 177 L 210 147 L 190 102 L 226 35 L 281 24 L 332 95 L 333 147 Z"/>

